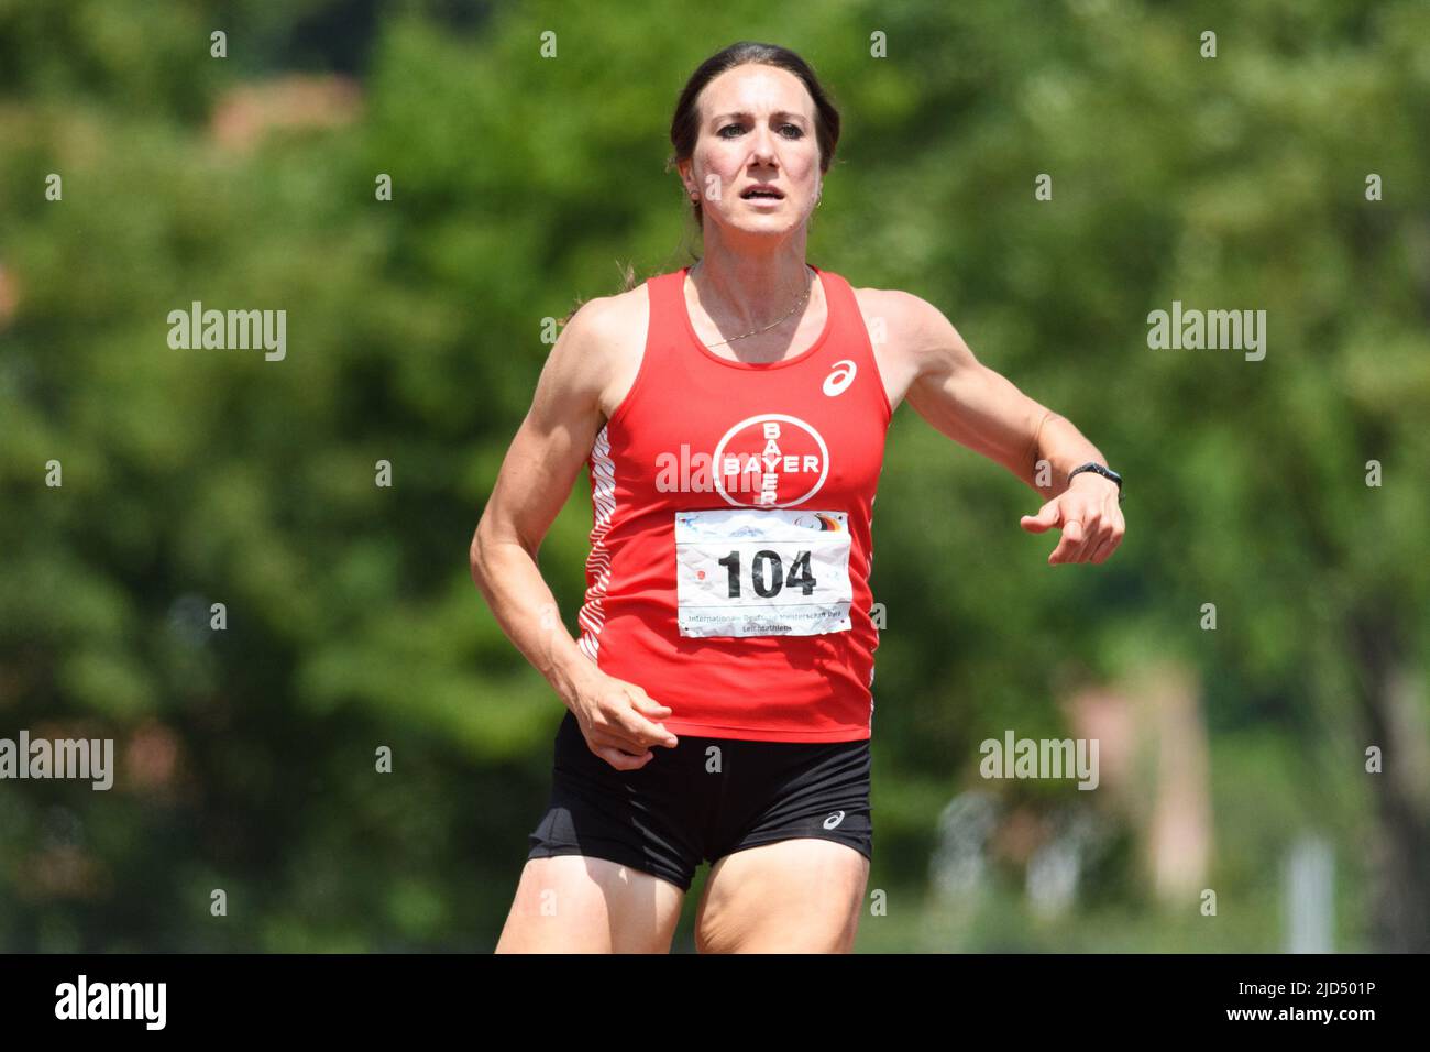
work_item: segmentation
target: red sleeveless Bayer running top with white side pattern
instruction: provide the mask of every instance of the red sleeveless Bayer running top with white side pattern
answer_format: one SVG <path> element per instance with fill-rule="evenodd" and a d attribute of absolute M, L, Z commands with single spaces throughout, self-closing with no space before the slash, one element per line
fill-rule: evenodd
<path fill-rule="evenodd" d="M 646 281 L 641 366 L 591 449 L 578 646 L 669 706 L 675 734 L 868 739 L 871 525 L 892 411 L 854 289 L 814 268 L 818 339 L 742 364 L 696 338 L 688 271 Z"/>

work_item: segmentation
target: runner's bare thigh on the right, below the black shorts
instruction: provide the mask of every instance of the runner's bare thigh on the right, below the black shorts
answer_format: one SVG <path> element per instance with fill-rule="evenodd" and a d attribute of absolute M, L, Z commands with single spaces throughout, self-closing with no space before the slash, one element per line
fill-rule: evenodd
<path fill-rule="evenodd" d="M 848 844 L 795 837 L 726 854 L 695 916 L 701 953 L 849 953 L 869 860 Z"/>

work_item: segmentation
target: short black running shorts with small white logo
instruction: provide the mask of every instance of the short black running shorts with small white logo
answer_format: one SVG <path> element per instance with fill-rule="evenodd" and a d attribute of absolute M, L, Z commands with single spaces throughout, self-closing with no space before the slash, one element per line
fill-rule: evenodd
<path fill-rule="evenodd" d="M 691 889 L 702 860 L 819 837 L 874 857 L 869 741 L 745 741 L 676 734 L 639 770 L 591 751 L 566 713 L 546 814 L 528 859 L 586 854 Z"/>

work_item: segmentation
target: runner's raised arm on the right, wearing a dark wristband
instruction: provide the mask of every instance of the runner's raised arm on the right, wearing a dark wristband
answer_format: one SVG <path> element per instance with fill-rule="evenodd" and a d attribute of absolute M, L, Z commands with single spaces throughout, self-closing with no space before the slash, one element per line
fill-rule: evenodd
<path fill-rule="evenodd" d="M 899 344 L 911 358 L 908 404 L 955 442 L 1001 464 L 1040 495 L 1051 494 L 1020 522 L 1035 534 L 1062 531 L 1048 565 L 1105 561 L 1127 528 L 1118 487 L 1093 471 L 1068 485 L 1074 468 L 1090 461 L 1105 467 L 1103 454 L 1071 421 L 974 358 L 937 306 L 907 292 L 894 295 Z"/>

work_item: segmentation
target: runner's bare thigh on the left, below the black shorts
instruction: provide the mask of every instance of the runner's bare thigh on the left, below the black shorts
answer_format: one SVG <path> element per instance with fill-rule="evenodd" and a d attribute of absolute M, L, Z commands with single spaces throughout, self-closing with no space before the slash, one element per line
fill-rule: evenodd
<path fill-rule="evenodd" d="M 685 892 L 605 859 L 529 859 L 498 953 L 669 953 Z"/>

